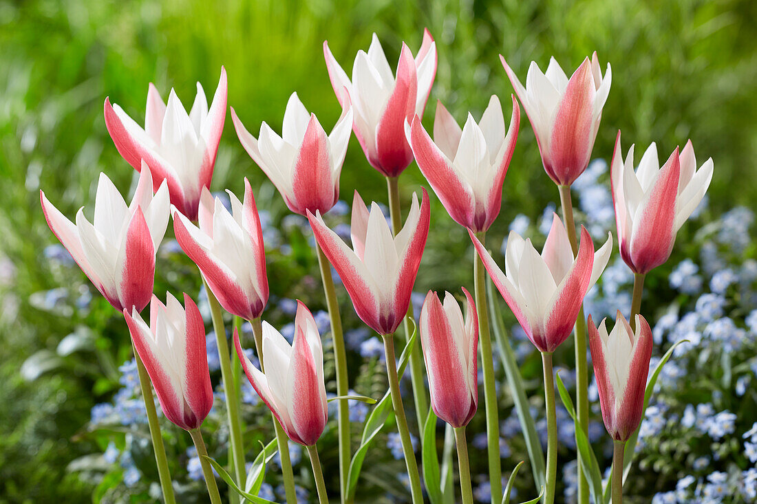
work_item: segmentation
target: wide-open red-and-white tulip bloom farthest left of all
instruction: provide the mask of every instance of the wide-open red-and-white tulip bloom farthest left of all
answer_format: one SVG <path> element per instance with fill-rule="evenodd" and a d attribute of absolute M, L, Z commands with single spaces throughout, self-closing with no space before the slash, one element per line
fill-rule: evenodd
<path fill-rule="evenodd" d="M 155 253 L 168 226 L 168 188 L 160 184 L 153 195 L 150 169 L 142 164 L 134 198 L 126 206 L 104 173 L 95 195 L 94 225 L 76 213 L 67 219 L 39 191 L 48 226 L 70 252 L 90 282 L 116 310 L 142 311 L 152 296 Z"/>

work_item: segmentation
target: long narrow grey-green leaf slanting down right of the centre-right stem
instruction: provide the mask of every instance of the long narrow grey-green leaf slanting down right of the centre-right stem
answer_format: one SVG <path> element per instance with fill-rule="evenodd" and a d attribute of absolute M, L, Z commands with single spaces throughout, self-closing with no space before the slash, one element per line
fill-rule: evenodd
<path fill-rule="evenodd" d="M 489 280 L 486 289 L 489 299 L 489 313 L 491 313 L 491 321 L 493 322 L 494 338 L 497 340 L 497 347 L 500 349 L 507 383 L 512 392 L 512 400 L 515 403 L 516 414 L 518 415 L 518 421 L 525 438 L 525 446 L 528 450 L 528 459 L 531 461 L 531 471 L 534 473 L 534 481 L 537 485 L 544 486 L 544 474 L 547 471 L 547 466 L 544 465 L 544 452 L 541 450 L 539 434 L 536 431 L 536 422 L 534 422 L 534 417 L 531 416 L 531 409 L 528 408 L 528 396 L 525 394 L 523 377 L 520 374 L 518 362 L 516 361 L 516 354 L 512 351 L 512 347 L 506 336 L 502 314 L 495 301 L 493 285 L 491 280 Z"/>

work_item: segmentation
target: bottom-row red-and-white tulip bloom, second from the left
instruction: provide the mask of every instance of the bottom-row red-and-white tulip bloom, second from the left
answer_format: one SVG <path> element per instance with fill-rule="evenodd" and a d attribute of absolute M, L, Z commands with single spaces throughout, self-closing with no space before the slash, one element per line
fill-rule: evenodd
<path fill-rule="evenodd" d="M 290 345 L 263 321 L 263 371 L 252 365 L 234 329 L 234 344 L 245 375 L 284 428 L 289 439 L 304 446 L 316 443 L 329 416 L 323 381 L 323 348 L 313 315 L 301 301 Z"/>

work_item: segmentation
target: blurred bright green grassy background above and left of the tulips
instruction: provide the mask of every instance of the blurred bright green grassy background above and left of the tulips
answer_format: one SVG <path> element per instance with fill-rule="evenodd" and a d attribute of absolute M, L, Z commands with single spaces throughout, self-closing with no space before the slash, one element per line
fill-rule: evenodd
<path fill-rule="evenodd" d="M 430 125 L 436 99 L 462 121 L 467 110 L 478 117 L 491 94 L 512 93 L 498 54 L 525 79 L 531 60 L 545 69 L 554 55 L 564 68 L 575 68 L 596 50 L 602 67 L 612 64 L 613 82 L 593 156 L 609 160 L 618 129 L 624 148 L 656 141 L 661 157 L 691 138 L 700 162 L 715 160 L 709 198 L 710 210 L 719 213 L 736 203 L 751 206 L 757 197 L 755 23 L 752 0 L 0 1 L 0 502 L 83 502 L 92 493 L 66 466 L 92 450 L 73 439 L 89 420 L 97 382 L 77 367 L 29 382 L 20 366 L 40 349 L 55 349 L 82 322 L 33 303 L 33 293 L 64 281 L 42 254 L 55 238 L 39 208 L 39 189 L 73 216 L 93 204 L 99 172 L 123 192 L 132 180 L 104 126 L 106 96 L 141 121 L 148 82 L 164 98 L 173 86 L 189 105 L 196 81 L 212 95 L 224 65 L 229 105 L 251 132 L 257 134 L 263 120 L 280 129 L 293 91 L 330 129 L 340 110 L 323 40 L 350 73 L 372 32 L 396 61 L 401 42 L 416 51 L 428 27 L 439 61 Z M 509 101 L 502 101 L 509 117 Z M 243 176 L 254 187 L 264 183 L 227 116 L 212 189 L 241 194 Z M 421 183 L 410 166 L 403 196 Z M 385 201 L 382 177 L 353 138 L 341 176 L 343 198 L 349 201 L 354 188 Z M 501 238 L 513 216 L 536 217 L 556 197 L 524 114 L 491 235 Z M 437 230 L 429 250 L 442 248 L 434 241 L 450 254 L 467 250 L 467 237 L 438 201 L 432 224 Z M 419 286 L 459 286 L 462 280 L 449 278 L 446 263 L 433 254 L 442 253 L 426 254 Z M 117 331 L 119 343 L 100 350 L 123 360 L 128 352 L 119 345 L 128 349 L 128 340 L 118 321 L 107 320 L 111 316 L 100 310 L 86 323 Z"/>

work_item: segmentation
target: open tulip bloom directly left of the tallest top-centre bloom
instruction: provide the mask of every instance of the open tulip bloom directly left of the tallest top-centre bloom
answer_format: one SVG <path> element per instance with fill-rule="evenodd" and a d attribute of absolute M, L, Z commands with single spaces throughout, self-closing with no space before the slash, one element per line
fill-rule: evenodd
<path fill-rule="evenodd" d="M 241 145 L 276 185 L 292 212 L 326 213 L 339 198 L 339 174 L 353 123 L 348 98 L 343 106 L 341 117 L 327 136 L 316 115 L 308 114 L 297 93 L 292 93 L 284 112 L 282 136 L 263 122 L 257 139 L 232 108 Z"/>

